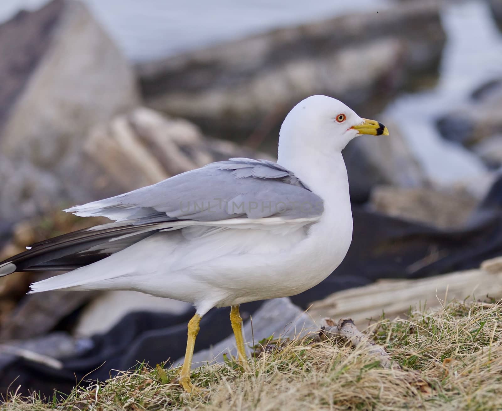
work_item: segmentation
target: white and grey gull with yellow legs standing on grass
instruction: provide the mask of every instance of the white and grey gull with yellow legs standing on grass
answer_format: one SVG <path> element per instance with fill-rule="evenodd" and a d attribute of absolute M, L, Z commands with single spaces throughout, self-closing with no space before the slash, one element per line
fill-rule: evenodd
<path fill-rule="evenodd" d="M 64 210 L 112 223 L 45 240 L 0 263 L 15 271 L 69 271 L 48 290 L 134 290 L 193 304 L 179 382 L 190 379 L 202 316 L 231 307 L 244 366 L 239 304 L 302 293 L 324 280 L 352 240 L 342 150 L 361 134 L 388 135 L 334 98 L 314 95 L 286 116 L 277 163 L 234 158 L 129 193 Z"/>

